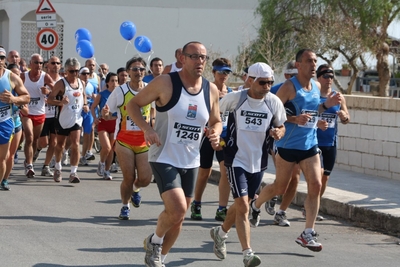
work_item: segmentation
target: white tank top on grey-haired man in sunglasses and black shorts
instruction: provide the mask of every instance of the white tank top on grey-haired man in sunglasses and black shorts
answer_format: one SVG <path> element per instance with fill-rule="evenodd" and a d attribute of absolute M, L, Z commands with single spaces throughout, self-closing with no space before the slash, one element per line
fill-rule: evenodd
<path fill-rule="evenodd" d="M 65 78 L 62 78 L 65 86 L 64 96 L 68 97 L 69 103 L 63 105 L 58 115 L 58 121 L 63 129 L 69 129 L 75 124 L 82 126 L 82 108 L 83 108 L 83 84 L 78 79 L 78 88 L 74 89 L 67 82 Z"/>

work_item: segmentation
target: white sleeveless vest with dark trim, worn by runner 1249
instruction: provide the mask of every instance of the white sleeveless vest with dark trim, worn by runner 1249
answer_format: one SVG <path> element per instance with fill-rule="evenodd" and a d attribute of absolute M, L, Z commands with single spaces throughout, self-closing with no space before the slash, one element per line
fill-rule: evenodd
<path fill-rule="evenodd" d="M 210 113 L 210 83 L 202 78 L 197 94 L 186 91 L 179 72 L 169 73 L 173 86 L 171 100 L 156 106 L 157 132 L 161 146 L 152 145 L 149 161 L 170 164 L 176 168 L 200 165 L 200 142 Z"/>

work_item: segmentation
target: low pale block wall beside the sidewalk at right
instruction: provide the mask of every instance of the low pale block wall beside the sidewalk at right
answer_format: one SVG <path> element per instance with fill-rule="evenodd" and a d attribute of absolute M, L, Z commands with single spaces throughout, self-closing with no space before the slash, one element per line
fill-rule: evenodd
<path fill-rule="evenodd" d="M 345 97 L 351 122 L 339 124 L 336 167 L 400 180 L 400 99 Z"/>

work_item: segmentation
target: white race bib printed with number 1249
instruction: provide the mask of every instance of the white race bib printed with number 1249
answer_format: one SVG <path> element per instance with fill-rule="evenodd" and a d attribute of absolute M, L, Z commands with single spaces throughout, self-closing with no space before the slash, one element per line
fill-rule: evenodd
<path fill-rule="evenodd" d="M 175 122 L 170 141 L 195 148 L 200 147 L 201 136 L 202 129 L 200 126 Z"/>

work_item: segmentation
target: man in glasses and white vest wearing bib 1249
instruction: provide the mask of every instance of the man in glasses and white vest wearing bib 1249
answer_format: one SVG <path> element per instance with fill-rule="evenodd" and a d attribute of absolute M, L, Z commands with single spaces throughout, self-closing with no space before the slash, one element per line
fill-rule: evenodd
<path fill-rule="evenodd" d="M 129 116 L 143 130 L 150 146 L 149 161 L 165 206 L 154 234 L 144 240 L 146 266 L 163 266 L 179 236 L 193 198 L 200 140 L 207 121 L 210 142 L 214 148 L 219 147 L 222 124 L 218 89 L 202 77 L 207 59 L 203 44 L 186 44 L 180 55 L 182 71 L 159 76 L 127 105 Z M 140 111 L 153 101 L 157 109 L 154 129 Z"/>

